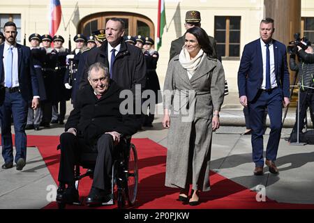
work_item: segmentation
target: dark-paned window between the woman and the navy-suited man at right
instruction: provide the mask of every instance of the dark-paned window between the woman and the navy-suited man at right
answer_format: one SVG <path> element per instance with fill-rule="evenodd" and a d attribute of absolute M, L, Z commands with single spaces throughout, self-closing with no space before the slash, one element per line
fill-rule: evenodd
<path fill-rule="evenodd" d="M 215 16 L 217 54 L 223 57 L 240 56 L 241 16 Z"/>

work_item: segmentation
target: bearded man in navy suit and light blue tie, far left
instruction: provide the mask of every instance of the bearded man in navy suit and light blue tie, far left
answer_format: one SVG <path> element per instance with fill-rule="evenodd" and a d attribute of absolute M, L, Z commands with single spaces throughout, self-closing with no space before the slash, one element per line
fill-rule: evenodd
<path fill-rule="evenodd" d="M 31 49 L 16 43 L 17 28 L 14 22 L 6 22 L 3 27 L 6 42 L 0 45 L 0 121 L 3 169 L 13 167 L 13 143 L 11 115 L 15 129 L 16 169 L 22 170 L 27 158 L 27 108 L 38 107 L 38 80 L 33 68 Z"/>

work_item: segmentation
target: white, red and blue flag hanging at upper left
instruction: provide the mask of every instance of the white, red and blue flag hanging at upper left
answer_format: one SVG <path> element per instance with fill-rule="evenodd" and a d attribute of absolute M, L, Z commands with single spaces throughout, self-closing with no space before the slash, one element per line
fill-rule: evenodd
<path fill-rule="evenodd" d="M 61 22 L 61 3 L 59 0 L 50 0 L 50 21 L 49 21 L 49 34 L 54 36 L 57 33 Z"/>

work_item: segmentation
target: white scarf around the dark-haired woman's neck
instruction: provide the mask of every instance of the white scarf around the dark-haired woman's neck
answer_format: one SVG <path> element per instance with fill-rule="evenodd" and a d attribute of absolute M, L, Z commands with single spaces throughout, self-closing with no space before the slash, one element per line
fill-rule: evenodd
<path fill-rule="evenodd" d="M 179 54 L 179 62 L 181 63 L 181 66 L 183 66 L 188 71 L 189 78 L 192 77 L 195 70 L 198 68 L 198 66 L 200 66 L 200 63 L 205 56 L 206 53 L 204 53 L 204 51 L 200 49 L 198 54 L 191 60 L 188 50 L 185 47 L 182 48 Z"/>

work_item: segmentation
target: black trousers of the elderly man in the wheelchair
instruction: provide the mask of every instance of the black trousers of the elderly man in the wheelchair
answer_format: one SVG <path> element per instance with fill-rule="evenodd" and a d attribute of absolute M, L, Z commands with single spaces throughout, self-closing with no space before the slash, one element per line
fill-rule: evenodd
<path fill-rule="evenodd" d="M 85 144 L 84 139 L 75 137 L 70 132 L 63 132 L 60 136 L 61 160 L 59 167 L 60 183 L 74 183 L 74 166 L 80 161 L 80 155 L 90 151 L 94 146 Z M 97 141 L 97 159 L 94 169 L 93 187 L 110 190 L 113 164 L 114 142 L 110 134 L 103 134 Z"/>

